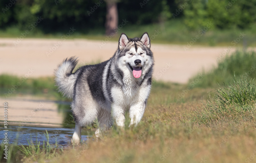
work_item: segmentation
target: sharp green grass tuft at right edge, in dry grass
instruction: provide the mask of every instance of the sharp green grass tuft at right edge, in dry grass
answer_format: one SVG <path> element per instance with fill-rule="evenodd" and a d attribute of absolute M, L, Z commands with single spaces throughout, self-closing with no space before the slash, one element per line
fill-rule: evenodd
<path fill-rule="evenodd" d="M 199 124 L 232 120 L 255 121 L 256 118 L 256 86 L 253 80 L 234 79 L 225 82 L 216 91 L 215 98 L 210 98 L 207 104 L 196 110 L 193 121 Z"/>

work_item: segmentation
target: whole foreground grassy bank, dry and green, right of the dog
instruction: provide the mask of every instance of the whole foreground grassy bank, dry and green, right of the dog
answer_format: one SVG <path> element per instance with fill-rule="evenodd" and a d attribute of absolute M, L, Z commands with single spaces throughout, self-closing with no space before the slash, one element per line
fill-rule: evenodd
<path fill-rule="evenodd" d="M 202 86 L 200 80 L 200 86 L 190 90 L 186 84 L 154 81 L 137 127 L 128 127 L 126 114 L 124 129 L 114 124 L 102 139 L 93 135 L 51 159 L 39 154 L 38 147 L 30 143 L 29 150 L 34 152 L 23 149 L 27 154 L 24 161 L 35 162 L 34 158 L 42 156 L 37 162 L 256 162 L 256 87 L 254 74 L 245 73 L 254 63 L 254 56 L 254 52 L 227 56 L 219 67 L 204 73 L 201 80 L 210 84 Z M 210 81 L 213 79 L 222 79 L 223 85 Z M 53 90 L 54 84 L 50 85 L 49 90 Z M 212 85 L 218 88 L 214 90 Z M 44 89 L 42 86 L 39 92 L 44 94 Z M 95 132 L 96 128 L 94 124 L 88 130 Z"/>

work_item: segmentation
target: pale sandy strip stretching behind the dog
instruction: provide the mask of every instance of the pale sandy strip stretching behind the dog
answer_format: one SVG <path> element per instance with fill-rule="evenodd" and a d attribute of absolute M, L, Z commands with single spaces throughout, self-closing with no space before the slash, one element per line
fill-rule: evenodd
<path fill-rule="evenodd" d="M 64 58 L 78 56 L 80 64 L 96 60 L 107 60 L 116 51 L 117 42 L 85 39 L 24 39 L 16 46 L 17 39 L 0 38 L 0 74 L 8 73 L 26 77 L 52 76 L 57 64 Z M 54 44 L 58 44 L 58 48 Z M 50 48 L 55 49 L 50 53 Z M 158 80 L 185 83 L 202 67 L 206 70 L 216 65 L 219 53 L 226 47 L 191 46 L 187 51 L 183 45 L 152 44 L 155 58 L 154 77 Z M 234 51 L 233 47 L 231 51 Z M 47 52 L 49 55 L 47 56 Z M 171 66 L 168 66 L 171 65 Z M 168 69 L 165 69 L 168 68 Z"/>

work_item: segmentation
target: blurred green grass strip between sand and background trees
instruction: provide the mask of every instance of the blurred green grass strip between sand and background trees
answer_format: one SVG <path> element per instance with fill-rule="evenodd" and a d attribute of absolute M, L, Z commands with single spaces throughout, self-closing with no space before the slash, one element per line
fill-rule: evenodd
<path fill-rule="evenodd" d="M 199 36 L 199 39 L 196 39 L 196 42 L 193 44 L 197 45 L 207 45 L 207 46 L 232 46 L 231 42 L 234 39 L 239 37 L 240 33 L 246 34 L 246 36 L 242 39 L 242 41 L 238 42 L 238 46 L 255 46 L 256 45 L 256 37 L 255 26 L 252 26 L 249 29 L 214 29 L 213 27 L 207 28 L 202 34 L 202 30 L 204 29 L 196 29 L 191 31 L 184 25 L 184 21 L 181 19 L 173 19 L 165 22 L 164 24 L 148 24 L 148 25 L 132 25 L 129 22 L 124 25 L 120 30 L 116 33 L 116 36 L 109 37 L 110 41 L 117 41 L 122 32 L 126 33 L 129 37 L 140 37 L 144 32 L 148 32 L 151 38 L 152 43 L 175 43 L 175 44 L 185 44 L 191 41 L 192 38 L 195 38 L 196 35 Z M 158 31 L 158 32 L 157 32 Z M 201 31 L 201 32 L 199 32 Z M 57 38 L 60 39 L 63 34 L 67 33 L 67 31 L 61 31 L 58 33 L 50 33 L 44 34 L 41 31 L 33 31 L 27 35 L 27 38 Z M 1 37 L 20 37 L 21 33 L 24 31 L 20 31 L 17 27 L 11 27 L 6 30 L 0 30 Z M 75 31 L 68 39 L 92 39 L 92 40 L 105 40 L 107 39 L 105 35 L 104 28 L 96 28 L 85 31 Z"/>

